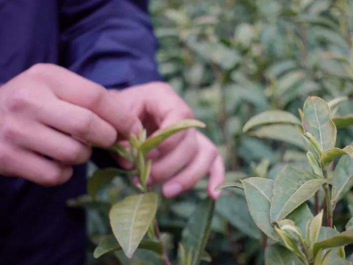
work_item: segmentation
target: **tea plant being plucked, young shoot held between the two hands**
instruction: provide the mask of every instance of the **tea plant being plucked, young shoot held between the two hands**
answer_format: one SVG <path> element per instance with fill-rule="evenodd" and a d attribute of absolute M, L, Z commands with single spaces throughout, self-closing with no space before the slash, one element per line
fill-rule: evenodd
<path fill-rule="evenodd" d="M 191 127 L 204 127 L 204 124 L 196 120 L 184 120 L 148 138 L 146 130 L 142 130 L 138 137 L 131 135 L 128 148 L 117 143 L 111 151 L 131 161 L 135 165 L 134 169 L 123 171 L 106 168 L 97 170 L 89 178 L 88 191 L 92 198 L 96 198 L 102 185 L 111 182 L 122 173 L 138 176 L 139 179 L 139 183 L 135 185 L 136 194 L 125 196 L 122 200 L 112 197 L 109 220 L 113 233 L 99 238 L 99 244 L 94 250 L 96 258 L 118 250 L 123 250 L 125 255 L 131 258 L 139 248 L 157 253 L 165 265 L 172 264 L 155 217 L 160 195 L 147 185 L 152 161 L 146 156 L 167 137 Z M 204 199 L 190 217 L 179 244 L 180 265 L 197 265 L 205 255 L 207 256 L 204 248 L 210 231 L 213 207 L 214 202 L 211 199 Z M 147 264 L 150 261 L 143 262 Z"/>

